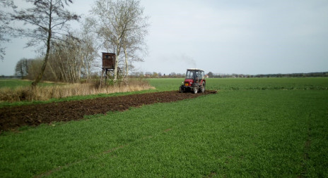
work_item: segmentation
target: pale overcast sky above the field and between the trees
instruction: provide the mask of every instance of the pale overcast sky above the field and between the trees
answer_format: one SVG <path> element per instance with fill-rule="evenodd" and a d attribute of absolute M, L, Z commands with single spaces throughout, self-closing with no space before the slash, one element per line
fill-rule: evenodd
<path fill-rule="evenodd" d="M 70 9 L 88 15 L 92 4 L 75 0 Z M 134 64 L 143 72 L 328 71 L 327 0 L 141 0 L 141 5 L 151 24 L 148 56 Z M 37 56 L 23 49 L 26 42 L 5 45 L 0 75 L 13 75 L 17 61 Z"/>

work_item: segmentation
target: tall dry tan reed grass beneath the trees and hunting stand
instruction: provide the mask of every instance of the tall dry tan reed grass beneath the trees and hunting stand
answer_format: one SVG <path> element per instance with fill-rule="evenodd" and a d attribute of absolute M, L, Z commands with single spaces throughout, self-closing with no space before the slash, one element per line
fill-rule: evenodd
<path fill-rule="evenodd" d="M 50 98 L 66 98 L 69 96 L 86 96 L 93 94 L 112 94 L 117 92 L 141 91 L 155 89 L 146 81 L 131 80 L 129 84 L 107 85 L 99 88 L 99 84 L 61 84 L 44 87 L 17 87 L 16 89 L 1 88 L 0 101 L 47 101 Z"/>

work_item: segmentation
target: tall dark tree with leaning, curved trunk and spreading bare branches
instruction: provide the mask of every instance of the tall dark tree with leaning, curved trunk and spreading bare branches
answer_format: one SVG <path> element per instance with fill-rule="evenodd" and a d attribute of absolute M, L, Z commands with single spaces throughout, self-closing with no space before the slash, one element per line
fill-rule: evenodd
<path fill-rule="evenodd" d="M 45 58 L 42 63 L 41 71 L 35 81 L 33 87 L 42 79 L 43 73 L 49 59 L 49 52 L 52 48 L 52 39 L 60 39 L 62 35 L 67 34 L 67 22 L 70 20 L 78 20 L 79 16 L 72 14 L 66 10 L 65 6 L 73 3 L 72 0 L 25 0 L 32 3 L 32 8 L 17 11 L 13 17 L 21 20 L 25 24 L 32 25 L 34 29 L 17 29 L 19 34 L 29 37 L 28 46 L 35 46 L 43 42 L 47 46 Z"/>

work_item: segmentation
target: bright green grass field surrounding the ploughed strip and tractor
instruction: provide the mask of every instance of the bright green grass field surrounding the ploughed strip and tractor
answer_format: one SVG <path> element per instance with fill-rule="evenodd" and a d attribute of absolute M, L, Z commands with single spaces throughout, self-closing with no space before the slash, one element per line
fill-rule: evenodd
<path fill-rule="evenodd" d="M 328 177 L 327 86 L 209 79 L 218 94 L 5 132 L 0 177 Z"/>

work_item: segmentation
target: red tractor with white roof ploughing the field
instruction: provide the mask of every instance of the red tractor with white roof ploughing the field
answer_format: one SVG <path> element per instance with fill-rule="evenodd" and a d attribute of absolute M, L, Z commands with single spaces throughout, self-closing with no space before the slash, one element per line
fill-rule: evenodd
<path fill-rule="evenodd" d="M 192 91 L 194 94 L 197 92 L 204 93 L 206 86 L 204 70 L 200 69 L 187 69 L 185 82 L 180 86 L 180 93 L 185 91 Z"/>

